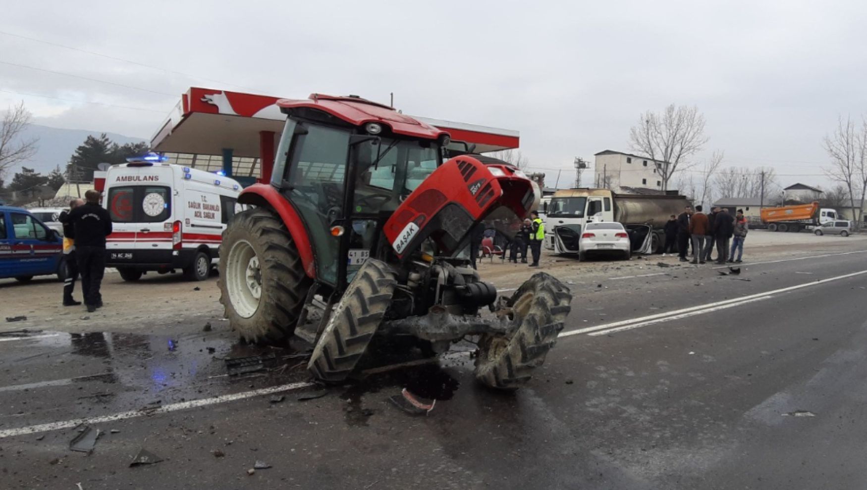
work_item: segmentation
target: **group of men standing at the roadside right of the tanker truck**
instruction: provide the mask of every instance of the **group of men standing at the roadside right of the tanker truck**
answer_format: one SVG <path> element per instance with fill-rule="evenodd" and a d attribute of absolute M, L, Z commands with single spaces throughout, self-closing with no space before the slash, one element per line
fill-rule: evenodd
<path fill-rule="evenodd" d="M 692 246 L 692 263 L 704 264 L 713 261 L 716 245 L 716 263 L 740 263 L 744 254 L 744 239 L 749 230 L 743 210 L 732 216 L 725 208 L 715 206 L 711 213 L 704 214 L 701 205 L 687 206 L 680 216 L 672 215 L 666 224 L 666 245 L 663 252 L 669 253 L 677 243 L 681 262 L 687 262 L 687 250 Z M 729 250 L 729 241 L 734 238 Z M 734 258 L 738 252 L 738 258 Z M 665 255 L 665 254 L 663 254 Z"/>

